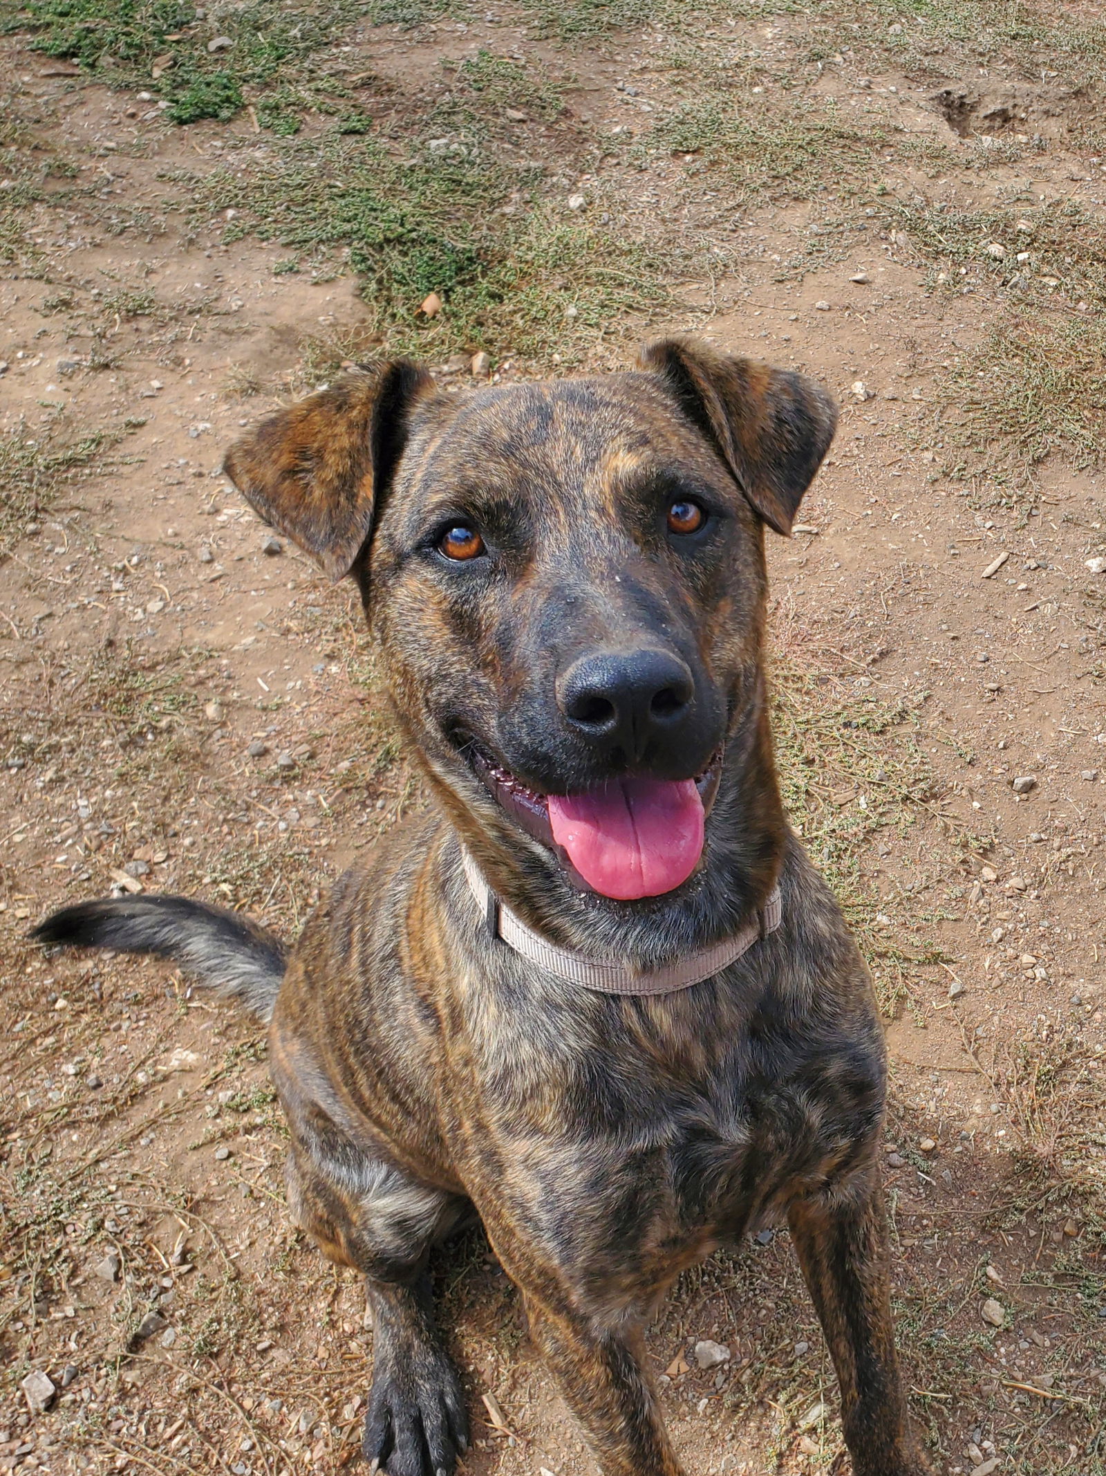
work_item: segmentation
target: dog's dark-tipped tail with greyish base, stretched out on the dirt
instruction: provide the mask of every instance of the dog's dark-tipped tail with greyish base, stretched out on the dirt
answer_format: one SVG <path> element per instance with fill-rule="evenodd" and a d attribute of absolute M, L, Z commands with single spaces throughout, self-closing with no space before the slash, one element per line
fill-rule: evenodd
<path fill-rule="evenodd" d="M 31 931 L 37 943 L 158 953 L 215 993 L 268 1020 L 288 964 L 285 946 L 252 918 L 189 897 L 102 897 L 52 912 Z"/>

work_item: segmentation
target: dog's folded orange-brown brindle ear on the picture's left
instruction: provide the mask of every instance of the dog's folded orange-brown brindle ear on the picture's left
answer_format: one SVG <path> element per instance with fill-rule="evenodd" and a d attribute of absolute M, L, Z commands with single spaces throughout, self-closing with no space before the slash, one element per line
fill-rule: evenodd
<path fill-rule="evenodd" d="M 432 388 L 406 359 L 349 375 L 262 421 L 230 447 L 223 471 L 265 523 L 339 580 L 369 540 L 411 407 Z"/>

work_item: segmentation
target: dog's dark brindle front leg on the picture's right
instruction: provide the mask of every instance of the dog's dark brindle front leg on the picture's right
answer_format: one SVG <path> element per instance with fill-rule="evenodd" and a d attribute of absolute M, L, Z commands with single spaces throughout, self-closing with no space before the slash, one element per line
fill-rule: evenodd
<path fill-rule="evenodd" d="M 855 1476 L 928 1476 L 907 1429 L 876 1170 L 839 1197 L 796 1200 L 787 1218 L 838 1371 Z"/>

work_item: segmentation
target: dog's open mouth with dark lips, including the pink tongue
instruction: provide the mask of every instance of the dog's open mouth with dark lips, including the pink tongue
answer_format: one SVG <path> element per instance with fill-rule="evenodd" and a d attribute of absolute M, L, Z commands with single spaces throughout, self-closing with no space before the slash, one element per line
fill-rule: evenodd
<path fill-rule="evenodd" d="M 540 794 L 479 745 L 470 756 L 493 797 L 557 855 L 577 886 L 634 902 L 674 892 L 699 865 L 721 748 L 696 779 L 625 776 L 580 794 Z"/>

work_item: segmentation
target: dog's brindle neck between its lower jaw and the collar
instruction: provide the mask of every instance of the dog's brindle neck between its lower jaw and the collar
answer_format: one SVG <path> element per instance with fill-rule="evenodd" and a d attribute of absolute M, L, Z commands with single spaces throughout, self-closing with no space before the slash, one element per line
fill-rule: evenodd
<path fill-rule="evenodd" d="M 618 958 L 634 970 L 664 968 L 737 936 L 768 903 L 789 835 L 759 669 L 746 692 L 708 816 L 703 865 L 678 893 L 634 903 L 584 893 L 554 855 L 521 840 L 506 818 L 490 831 L 451 804 L 459 840 L 493 894 L 554 946 L 585 958 Z"/>

